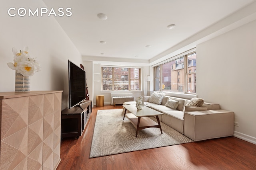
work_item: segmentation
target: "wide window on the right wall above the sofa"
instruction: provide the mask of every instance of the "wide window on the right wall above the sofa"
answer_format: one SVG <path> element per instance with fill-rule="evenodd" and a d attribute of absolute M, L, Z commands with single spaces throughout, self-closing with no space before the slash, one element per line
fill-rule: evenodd
<path fill-rule="evenodd" d="M 196 52 L 155 66 L 154 77 L 156 91 L 196 93 Z"/>

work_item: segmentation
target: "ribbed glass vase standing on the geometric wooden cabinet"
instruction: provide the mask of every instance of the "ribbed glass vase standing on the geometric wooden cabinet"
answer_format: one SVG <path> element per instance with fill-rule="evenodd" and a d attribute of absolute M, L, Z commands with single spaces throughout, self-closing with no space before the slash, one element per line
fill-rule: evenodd
<path fill-rule="evenodd" d="M 15 72 L 15 92 L 30 92 L 30 76 Z"/>

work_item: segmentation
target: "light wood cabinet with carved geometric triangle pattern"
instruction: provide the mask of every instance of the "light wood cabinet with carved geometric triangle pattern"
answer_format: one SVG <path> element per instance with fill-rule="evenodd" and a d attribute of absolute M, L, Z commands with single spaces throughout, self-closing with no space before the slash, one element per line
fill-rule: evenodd
<path fill-rule="evenodd" d="M 54 170 L 62 91 L 0 93 L 0 170 Z"/>

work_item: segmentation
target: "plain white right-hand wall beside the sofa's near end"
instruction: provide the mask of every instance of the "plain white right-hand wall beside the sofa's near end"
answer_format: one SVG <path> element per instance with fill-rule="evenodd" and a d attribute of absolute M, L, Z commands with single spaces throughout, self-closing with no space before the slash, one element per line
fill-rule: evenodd
<path fill-rule="evenodd" d="M 197 95 L 234 112 L 235 135 L 256 141 L 256 20 L 197 45 Z M 248 136 L 247 136 L 248 135 Z M 247 140 L 248 141 L 248 140 Z"/>

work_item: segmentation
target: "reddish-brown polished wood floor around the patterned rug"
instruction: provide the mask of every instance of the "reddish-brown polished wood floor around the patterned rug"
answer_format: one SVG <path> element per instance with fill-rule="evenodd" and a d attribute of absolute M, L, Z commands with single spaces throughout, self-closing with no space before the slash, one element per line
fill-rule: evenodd
<path fill-rule="evenodd" d="M 256 170 L 256 145 L 236 137 L 89 158 L 99 109 L 114 106 L 92 108 L 83 135 L 62 139 L 57 170 Z"/>

